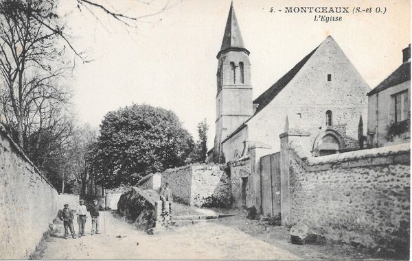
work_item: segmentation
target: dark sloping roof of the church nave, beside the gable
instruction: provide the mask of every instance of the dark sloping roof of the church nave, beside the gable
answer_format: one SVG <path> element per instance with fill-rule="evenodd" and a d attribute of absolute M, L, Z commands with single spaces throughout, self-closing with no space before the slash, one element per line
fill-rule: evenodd
<path fill-rule="evenodd" d="M 319 46 L 318 46 L 319 47 Z M 309 58 L 312 56 L 314 51 L 318 49 L 316 47 L 313 51 L 311 51 L 308 55 L 305 56 L 300 62 L 298 62 L 286 75 L 280 78 L 275 84 L 268 88 L 265 92 L 262 93 L 258 98 L 253 101 L 254 104 L 258 104 L 258 108 L 256 108 L 255 114 L 258 114 L 263 108 L 266 107 L 275 97 L 279 94 L 283 88 L 288 85 L 288 83 L 295 77 L 295 75 L 300 71 L 300 69 L 308 62 Z"/>

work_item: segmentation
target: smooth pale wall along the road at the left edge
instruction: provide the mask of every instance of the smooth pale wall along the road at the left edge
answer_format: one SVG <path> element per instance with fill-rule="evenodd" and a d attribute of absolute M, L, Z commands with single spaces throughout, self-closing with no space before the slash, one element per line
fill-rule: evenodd
<path fill-rule="evenodd" d="M 0 125 L 0 259 L 27 259 L 58 212 L 58 193 Z"/>

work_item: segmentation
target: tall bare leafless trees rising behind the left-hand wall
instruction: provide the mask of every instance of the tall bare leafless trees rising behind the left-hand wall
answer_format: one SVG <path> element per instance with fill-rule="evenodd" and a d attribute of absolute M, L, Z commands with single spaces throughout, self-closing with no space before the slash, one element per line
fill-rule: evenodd
<path fill-rule="evenodd" d="M 91 147 L 87 128 L 74 124 L 71 93 L 64 84 L 77 58 L 91 60 L 76 49 L 67 15 L 85 12 L 100 24 L 108 16 L 132 29 L 174 6 L 169 0 L 161 5 L 152 0 L 72 2 L 76 5 L 59 15 L 57 0 L 0 1 L 0 122 L 62 192 L 76 190 L 76 181 L 85 190 L 89 179 L 85 155 Z M 157 9 L 137 14 L 130 12 L 130 5 Z M 72 61 L 69 54 L 74 54 Z"/>

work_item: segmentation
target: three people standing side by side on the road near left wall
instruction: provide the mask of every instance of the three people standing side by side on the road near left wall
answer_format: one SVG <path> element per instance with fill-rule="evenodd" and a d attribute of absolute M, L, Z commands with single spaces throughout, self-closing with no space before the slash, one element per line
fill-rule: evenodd
<path fill-rule="evenodd" d="M 100 234 L 99 233 L 99 210 L 100 206 L 98 205 L 98 199 L 93 200 L 93 206 L 90 209 L 90 216 L 91 216 L 91 235 L 93 234 Z M 65 204 L 60 212 L 59 212 L 59 219 L 63 221 L 63 225 L 65 226 L 65 239 L 69 237 L 69 229 L 71 236 L 73 238 L 76 238 L 76 232 L 74 231 L 74 226 L 73 226 L 73 211 L 69 208 L 69 204 Z M 79 225 L 79 238 L 82 236 L 86 236 L 84 234 L 84 226 L 86 225 L 87 221 L 87 213 L 88 210 L 86 206 L 84 206 L 84 200 L 80 199 L 79 201 L 79 206 L 76 210 L 76 215 L 78 216 L 78 225 Z"/>

